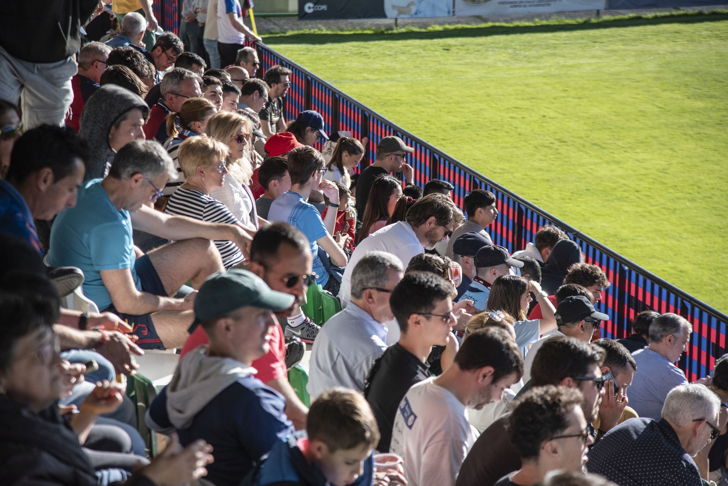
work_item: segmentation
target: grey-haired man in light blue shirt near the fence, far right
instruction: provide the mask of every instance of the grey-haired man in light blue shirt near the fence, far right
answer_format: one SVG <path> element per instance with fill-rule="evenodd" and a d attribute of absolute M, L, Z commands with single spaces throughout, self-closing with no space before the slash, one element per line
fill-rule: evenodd
<path fill-rule="evenodd" d="M 649 346 L 632 354 L 638 371 L 630 386 L 630 407 L 640 417 L 659 419 L 670 390 L 687 383 L 675 362 L 687 351 L 691 332 L 692 325 L 681 316 L 662 314 L 649 327 Z"/>

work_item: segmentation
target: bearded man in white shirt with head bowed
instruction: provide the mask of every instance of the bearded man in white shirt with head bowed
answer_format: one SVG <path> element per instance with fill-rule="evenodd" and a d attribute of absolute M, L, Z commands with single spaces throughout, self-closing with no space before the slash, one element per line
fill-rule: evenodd
<path fill-rule="evenodd" d="M 363 239 L 349 258 L 341 279 L 341 307 L 346 307 L 351 299 L 352 271 L 368 252 L 392 253 L 402 260 L 403 268 L 407 268 L 414 255 L 432 250 L 435 244 L 447 239 L 452 234 L 455 221 L 463 218 L 462 212 L 448 196 L 430 194 L 412 205 L 405 221 L 385 226 Z"/>

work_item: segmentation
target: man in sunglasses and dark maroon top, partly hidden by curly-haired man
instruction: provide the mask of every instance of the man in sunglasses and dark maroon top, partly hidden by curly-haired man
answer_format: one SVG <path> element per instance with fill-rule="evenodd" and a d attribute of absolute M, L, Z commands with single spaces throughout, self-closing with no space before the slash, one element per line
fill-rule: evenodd
<path fill-rule="evenodd" d="M 555 385 L 582 392 L 582 411 L 589 424 L 587 444 L 593 443 L 596 435 L 591 423 L 598 416 L 604 394 L 604 378 L 601 376 L 603 362 L 604 349 L 599 346 L 574 338 L 558 337 L 547 340 L 541 346 L 531 370 L 531 388 Z M 521 457 L 510 442 L 507 431 L 509 421 L 510 413 L 506 413 L 480 434 L 462 463 L 456 486 L 493 486 L 506 474 L 521 469 Z"/>

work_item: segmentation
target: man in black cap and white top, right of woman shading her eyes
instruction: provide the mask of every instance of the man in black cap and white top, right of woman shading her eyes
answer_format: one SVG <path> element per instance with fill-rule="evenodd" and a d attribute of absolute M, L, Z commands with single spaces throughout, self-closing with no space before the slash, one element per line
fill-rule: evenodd
<path fill-rule="evenodd" d="M 523 362 L 523 383 L 531 379 L 531 366 L 543 343 L 554 336 L 567 336 L 589 343 L 596 328 L 609 316 L 597 312 L 591 301 L 582 295 L 574 295 L 561 300 L 556 308 L 556 329 L 537 340 L 526 354 Z"/>

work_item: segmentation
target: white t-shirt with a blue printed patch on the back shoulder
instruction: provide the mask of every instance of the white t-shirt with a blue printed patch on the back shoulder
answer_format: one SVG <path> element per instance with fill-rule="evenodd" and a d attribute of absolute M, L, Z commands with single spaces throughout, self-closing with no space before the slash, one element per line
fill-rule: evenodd
<path fill-rule="evenodd" d="M 478 435 L 465 406 L 433 380 L 413 385 L 395 415 L 389 450 L 402 456 L 408 486 L 454 485 Z"/>

